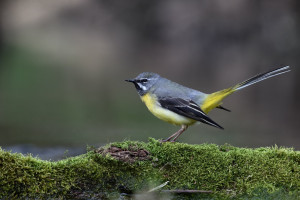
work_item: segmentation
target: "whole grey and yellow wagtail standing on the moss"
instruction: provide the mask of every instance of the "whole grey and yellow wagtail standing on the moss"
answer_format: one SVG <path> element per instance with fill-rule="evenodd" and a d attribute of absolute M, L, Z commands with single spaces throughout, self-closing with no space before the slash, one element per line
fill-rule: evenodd
<path fill-rule="evenodd" d="M 289 71 L 289 66 L 280 67 L 211 94 L 182 86 L 152 72 L 143 72 L 136 78 L 126 81 L 134 84 L 142 101 L 153 115 L 171 124 L 181 125 L 176 133 L 163 140 L 175 142 L 188 126 L 196 122 L 223 129 L 207 116 L 209 111 L 214 108 L 229 111 L 221 106 L 225 97 L 254 83 Z"/>

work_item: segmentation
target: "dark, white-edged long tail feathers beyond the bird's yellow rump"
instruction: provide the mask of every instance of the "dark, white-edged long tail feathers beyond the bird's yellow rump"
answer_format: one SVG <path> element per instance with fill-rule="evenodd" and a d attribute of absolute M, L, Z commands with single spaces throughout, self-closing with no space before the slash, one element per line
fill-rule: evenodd
<path fill-rule="evenodd" d="M 273 76 L 277 76 L 277 75 L 289 72 L 289 71 L 291 71 L 289 68 L 290 68 L 290 66 L 285 66 L 285 67 L 280 67 L 280 68 L 277 68 L 277 69 L 274 69 L 274 70 L 271 70 L 271 71 L 268 71 L 265 73 L 257 74 L 256 76 L 253 76 L 252 78 L 249 78 L 248 80 L 245 80 L 244 82 L 235 85 L 232 89 L 234 91 L 243 89 L 254 83 L 258 83 L 260 81 L 266 80 Z"/>

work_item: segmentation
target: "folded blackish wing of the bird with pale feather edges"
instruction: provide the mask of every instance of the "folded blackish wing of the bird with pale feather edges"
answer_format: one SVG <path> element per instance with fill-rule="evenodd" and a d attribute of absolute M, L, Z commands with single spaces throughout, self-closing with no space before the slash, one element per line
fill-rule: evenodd
<path fill-rule="evenodd" d="M 192 100 L 181 98 L 161 98 L 158 102 L 163 108 L 171 110 L 179 115 L 203 122 L 205 124 L 224 129 L 222 126 L 210 119 L 201 108 Z"/>

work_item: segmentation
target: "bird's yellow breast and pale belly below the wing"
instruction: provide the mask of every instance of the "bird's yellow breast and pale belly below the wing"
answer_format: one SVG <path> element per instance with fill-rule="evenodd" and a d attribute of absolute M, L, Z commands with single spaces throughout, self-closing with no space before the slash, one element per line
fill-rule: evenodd
<path fill-rule="evenodd" d="M 141 96 L 142 101 L 147 106 L 148 110 L 157 118 L 175 125 L 191 125 L 196 121 L 182 115 L 178 115 L 168 109 L 162 108 L 156 101 L 155 95 L 145 94 Z"/>

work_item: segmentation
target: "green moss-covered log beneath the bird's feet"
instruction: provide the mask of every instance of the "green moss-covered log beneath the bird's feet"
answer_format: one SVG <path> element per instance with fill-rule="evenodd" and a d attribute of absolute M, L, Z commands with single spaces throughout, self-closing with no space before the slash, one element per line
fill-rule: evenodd
<path fill-rule="evenodd" d="M 163 190 L 212 191 L 188 198 L 295 199 L 300 194 L 300 152 L 150 139 L 112 143 L 51 162 L 0 149 L 0 198 L 116 198 L 167 181 Z"/>

